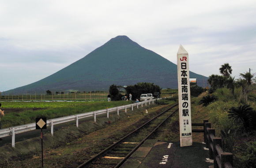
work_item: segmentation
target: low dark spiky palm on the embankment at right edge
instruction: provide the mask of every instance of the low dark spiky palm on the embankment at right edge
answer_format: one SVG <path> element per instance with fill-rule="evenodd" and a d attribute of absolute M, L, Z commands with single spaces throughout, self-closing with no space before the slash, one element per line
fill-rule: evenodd
<path fill-rule="evenodd" d="M 232 107 L 228 112 L 228 116 L 230 119 L 233 119 L 236 122 L 242 122 L 245 129 L 249 128 L 251 123 L 250 113 L 253 112 L 252 107 L 249 105 L 239 106 L 238 108 Z"/>

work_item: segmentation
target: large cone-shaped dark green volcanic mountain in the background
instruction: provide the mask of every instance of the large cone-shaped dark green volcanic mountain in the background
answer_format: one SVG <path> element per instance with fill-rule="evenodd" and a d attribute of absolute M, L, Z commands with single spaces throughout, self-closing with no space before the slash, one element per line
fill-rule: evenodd
<path fill-rule="evenodd" d="M 190 72 L 203 85 L 207 77 Z M 161 88 L 177 88 L 177 65 L 141 47 L 127 36 L 117 36 L 60 71 L 42 80 L 6 93 L 36 91 L 107 91 L 109 85 L 150 82 Z"/>

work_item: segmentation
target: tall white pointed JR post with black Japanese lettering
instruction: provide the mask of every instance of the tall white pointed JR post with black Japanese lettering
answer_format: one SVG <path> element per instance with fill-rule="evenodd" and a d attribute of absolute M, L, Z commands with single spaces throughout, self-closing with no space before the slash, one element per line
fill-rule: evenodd
<path fill-rule="evenodd" d="M 177 53 L 181 147 L 192 146 L 188 52 L 180 45 Z"/>

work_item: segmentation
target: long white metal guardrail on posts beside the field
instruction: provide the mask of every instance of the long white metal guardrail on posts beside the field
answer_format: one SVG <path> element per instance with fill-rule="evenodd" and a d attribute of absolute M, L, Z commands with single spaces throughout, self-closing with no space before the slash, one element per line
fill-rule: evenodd
<path fill-rule="evenodd" d="M 47 120 L 47 126 L 51 126 L 51 134 L 53 135 L 53 126 L 56 124 L 76 120 L 76 127 L 78 127 L 78 120 L 81 118 L 94 116 L 94 122 L 96 122 L 97 115 L 107 113 L 107 117 L 109 118 L 109 112 L 117 111 L 117 115 L 119 115 L 119 110 L 125 109 L 125 113 L 126 113 L 127 108 L 131 107 L 133 110 L 133 107 L 137 106 L 137 109 L 139 109 L 139 105 L 141 105 L 141 107 L 143 107 L 143 104 L 145 104 L 145 106 L 147 106 L 147 102 L 150 105 L 151 102 L 153 104 L 154 101 L 160 100 L 160 99 L 165 99 L 165 98 L 151 99 L 151 100 L 147 100 L 147 101 L 143 101 L 143 102 L 137 102 L 137 103 L 128 104 L 128 105 L 124 105 L 124 106 L 112 107 L 112 108 L 104 109 L 104 110 L 97 110 L 97 111 L 92 111 L 92 112 L 87 112 L 87 113 L 75 114 L 72 116 L 53 118 L 53 119 Z M 11 146 L 15 147 L 15 134 L 32 131 L 34 129 L 36 129 L 35 122 L 30 123 L 30 124 L 24 124 L 24 125 L 19 125 L 19 126 L 15 126 L 15 127 L 0 129 L 0 138 L 12 135 Z"/>

